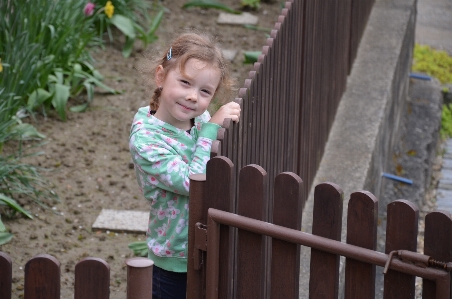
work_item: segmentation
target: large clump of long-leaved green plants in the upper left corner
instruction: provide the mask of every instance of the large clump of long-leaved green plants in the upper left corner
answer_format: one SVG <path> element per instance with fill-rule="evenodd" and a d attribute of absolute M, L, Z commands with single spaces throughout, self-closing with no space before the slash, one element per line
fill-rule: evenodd
<path fill-rule="evenodd" d="M 0 102 L 6 103 L 0 118 L 7 120 L 21 107 L 43 113 L 53 107 L 64 120 L 69 98 L 83 89 L 105 88 L 90 64 L 89 49 L 101 42 L 84 5 L 82 0 L 0 2 Z M 77 65 L 85 66 L 84 72 Z"/>

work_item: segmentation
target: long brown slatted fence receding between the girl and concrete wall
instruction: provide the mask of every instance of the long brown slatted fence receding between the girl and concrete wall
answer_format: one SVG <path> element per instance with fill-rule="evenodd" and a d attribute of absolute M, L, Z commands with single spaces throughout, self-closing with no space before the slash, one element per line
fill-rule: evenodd
<path fill-rule="evenodd" d="M 373 3 L 287 1 L 235 99 L 241 121 L 225 124 L 216 154 L 271 177 L 297 173 L 307 197 Z"/>

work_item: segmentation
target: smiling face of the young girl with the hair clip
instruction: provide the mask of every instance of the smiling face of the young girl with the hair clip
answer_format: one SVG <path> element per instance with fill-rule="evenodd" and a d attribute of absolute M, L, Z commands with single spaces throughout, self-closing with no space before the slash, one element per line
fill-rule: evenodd
<path fill-rule="evenodd" d="M 155 117 L 188 130 L 192 127 L 191 119 L 207 110 L 221 74 L 217 67 L 191 58 L 185 64 L 185 74 L 176 67 L 165 76 L 163 67 L 159 65 L 155 78 L 157 86 L 163 87 Z"/>

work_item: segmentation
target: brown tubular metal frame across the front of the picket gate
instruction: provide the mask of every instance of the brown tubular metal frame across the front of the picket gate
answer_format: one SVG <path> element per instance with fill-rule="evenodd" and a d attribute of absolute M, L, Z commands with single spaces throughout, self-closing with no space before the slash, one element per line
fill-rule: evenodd
<path fill-rule="evenodd" d="M 332 254 L 384 267 L 388 255 L 366 248 L 334 241 L 320 236 L 311 235 L 298 230 L 285 228 L 268 222 L 250 219 L 233 213 L 216 209 L 208 211 L 207 230 L 207 298 L 218 298 L 218 261 L 220 250 L 220 224 L 237 227 L 250 232 L 263 234 L 287 242 L 308 246 Z M 416 275 L 436 282 L 436 299 L 450 299 L 450 274 L 443 270 L 421 268 L 405 263 L 399 259 L 392 259 L 389 268 L 402 273 Z"/>

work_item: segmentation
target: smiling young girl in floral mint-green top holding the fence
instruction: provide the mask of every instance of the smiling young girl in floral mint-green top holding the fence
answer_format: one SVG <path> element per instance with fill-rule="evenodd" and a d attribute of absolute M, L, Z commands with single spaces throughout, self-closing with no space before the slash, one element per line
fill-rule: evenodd
<path fill-rule="evenodd" d="M 218 129 L 226 118 L 239 121 L 240 106 L 230 102 L 210 118 L 212 98 L 230 92 L 232 79 L 207 35 L 182 34 L 156 65 L 157 88 L 135 115 L 130 152 L 151 203 L 146 240 L 154 261 L 153 299 L 185 299 L 189 176 L 205 173 Z"/>

